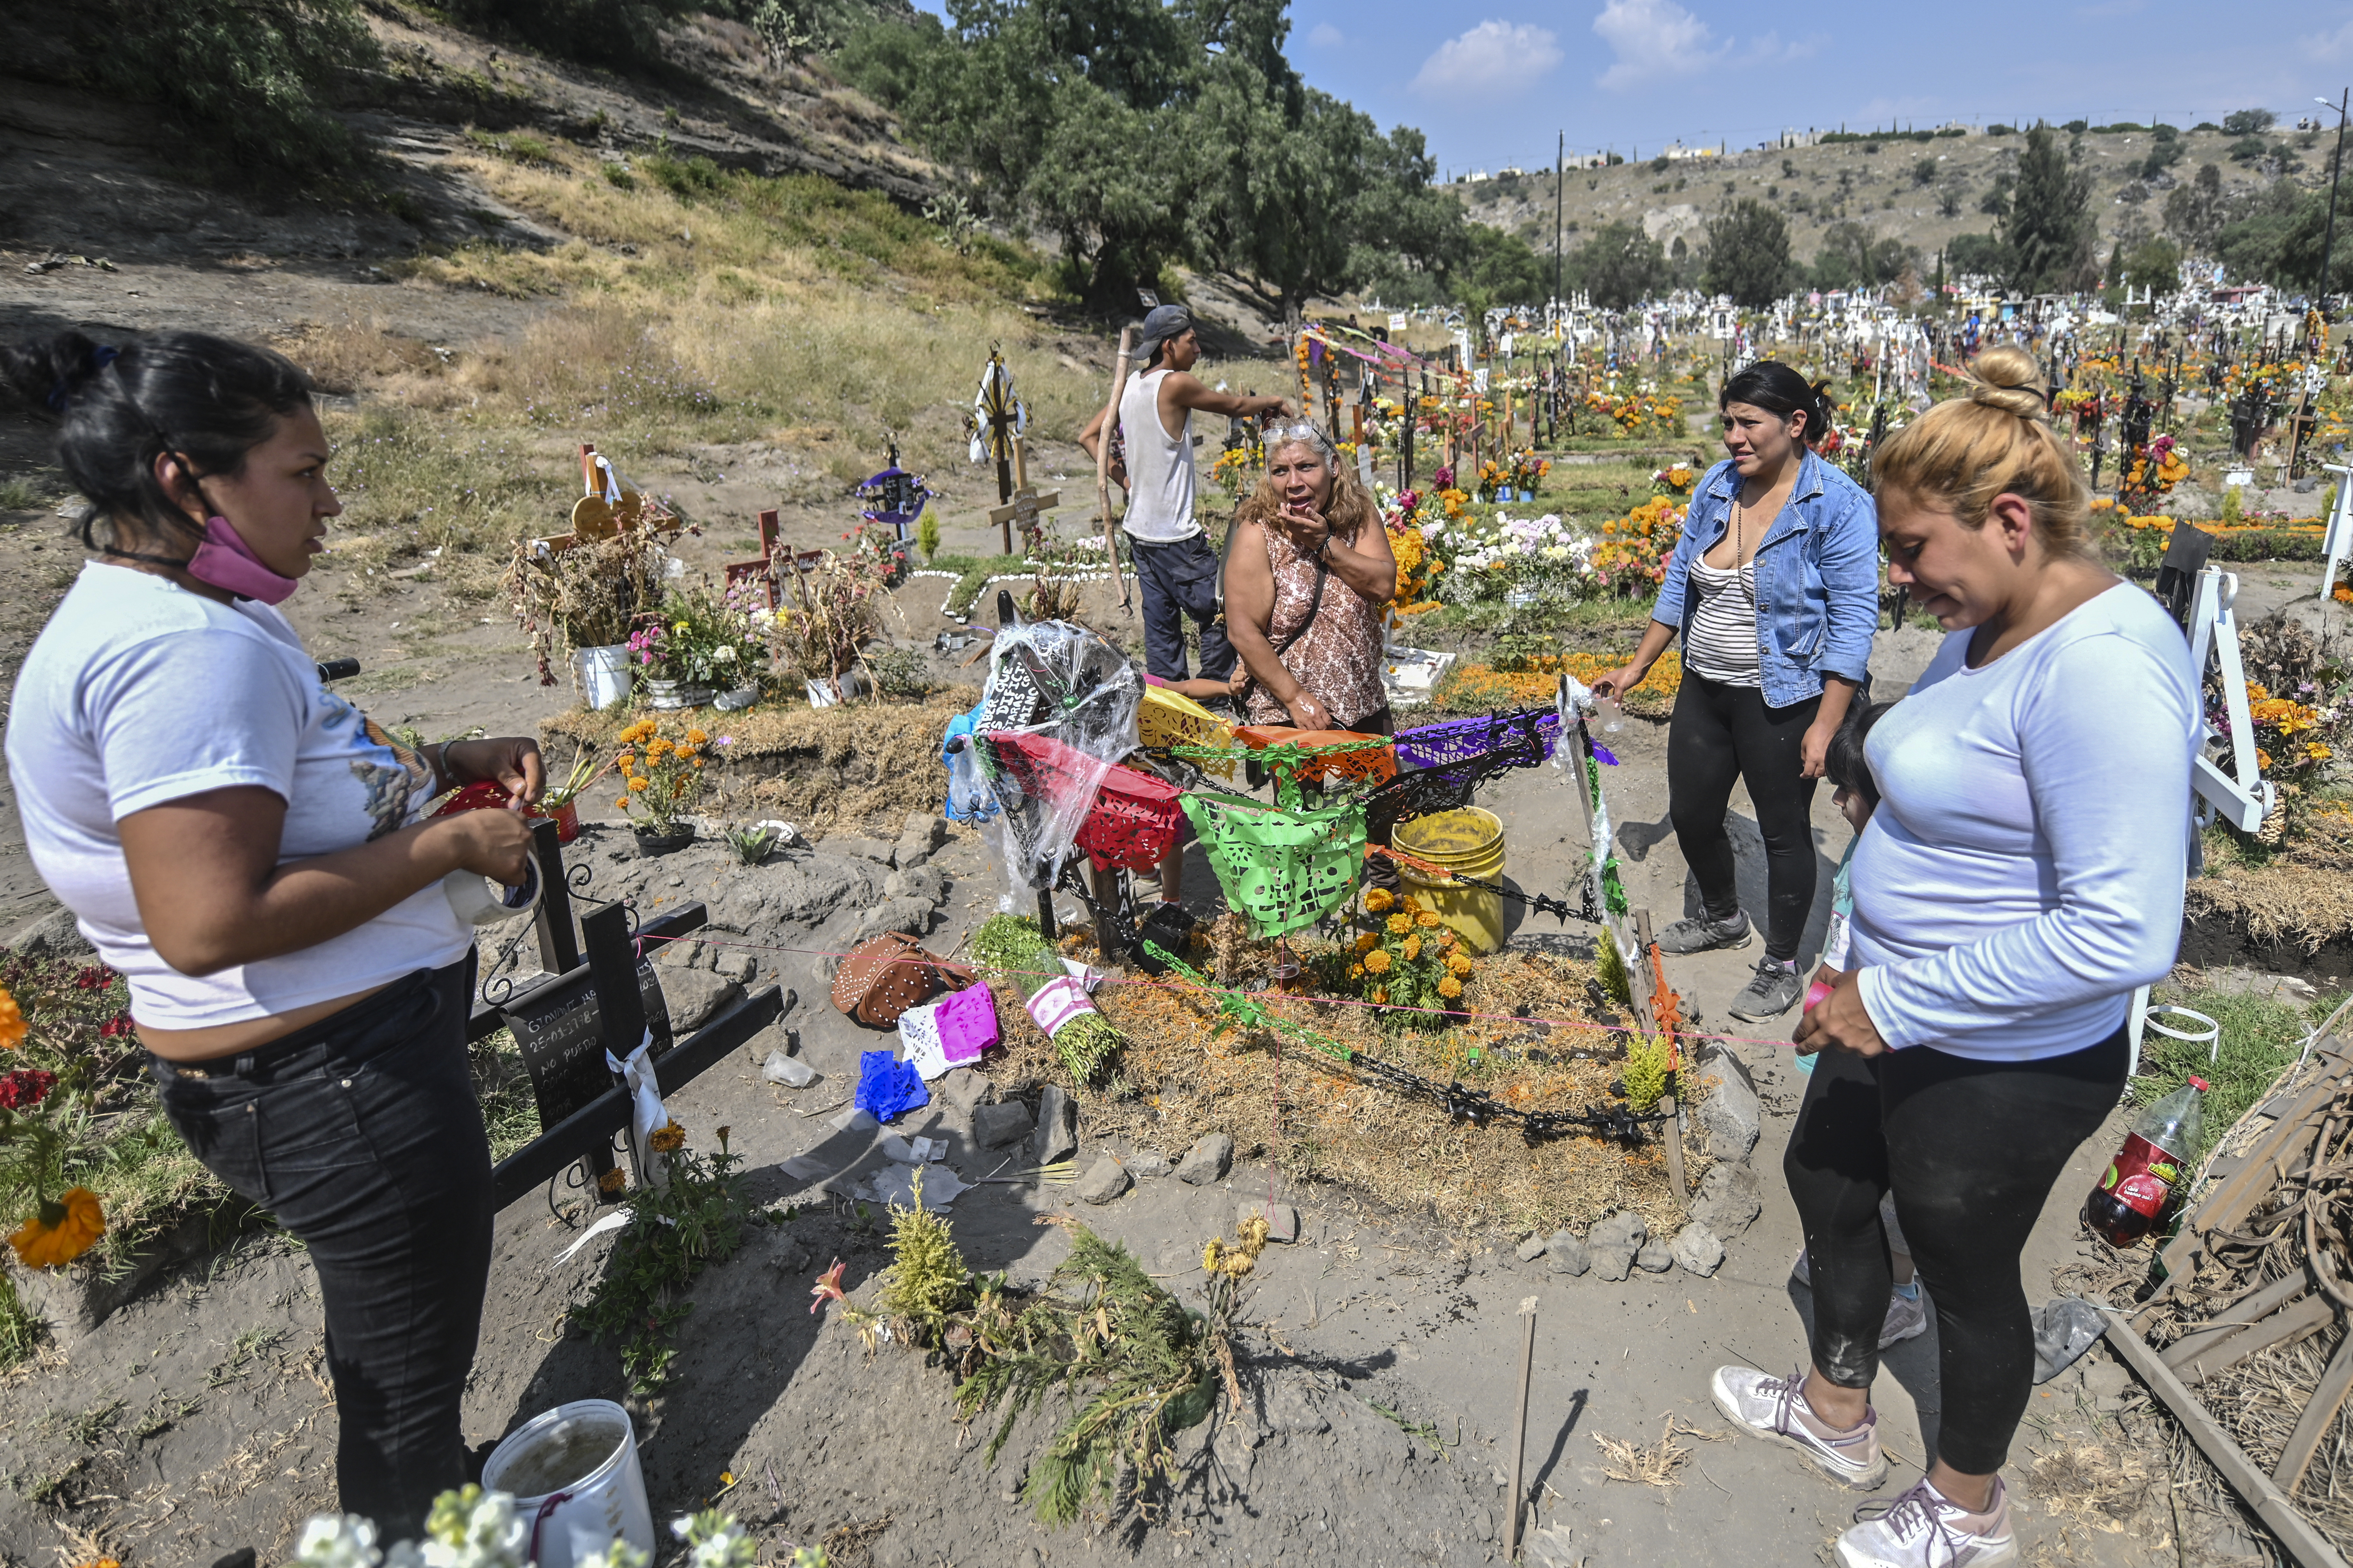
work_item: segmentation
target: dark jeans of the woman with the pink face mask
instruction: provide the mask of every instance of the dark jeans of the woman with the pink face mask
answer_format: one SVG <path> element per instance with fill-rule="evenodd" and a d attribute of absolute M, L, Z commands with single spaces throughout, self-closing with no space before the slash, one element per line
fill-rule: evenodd
<path fill-rule="evenodd" d="M 336 1486 L 384 1540 L 466 1483 L 459 1401 L 489 1284 L 489 1138 L 466 964 L 416 971 L 202 1072 L 148 1058 L 205 1168 L 311 1251 L 341 1425 Z"/>

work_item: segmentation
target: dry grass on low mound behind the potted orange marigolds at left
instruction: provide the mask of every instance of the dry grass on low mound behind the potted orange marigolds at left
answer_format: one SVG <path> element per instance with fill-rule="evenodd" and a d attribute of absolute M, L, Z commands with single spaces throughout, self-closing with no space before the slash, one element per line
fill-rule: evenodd
<path fill-rule="evenodd" d="M 715 741 L 713 783 L 722 816 L 786 816 L 802 832 L 878 832 L 899 837 L 911 811 L 939 811 L 948 799 L 948 771 L 939 766 L 939 736 L 948 719 L 972 708 L 979 693 L 953 686 L 920 703 L 852 703 L 809 708 L 793 698 L 769 698 L 741 712 L 704 710 L 694 722 Z M 565 741 L 595 757 L 609 757 L 614 736 L 635 722 L 614 708 L 572 708 L 539 724 L 544 745 Z"/>

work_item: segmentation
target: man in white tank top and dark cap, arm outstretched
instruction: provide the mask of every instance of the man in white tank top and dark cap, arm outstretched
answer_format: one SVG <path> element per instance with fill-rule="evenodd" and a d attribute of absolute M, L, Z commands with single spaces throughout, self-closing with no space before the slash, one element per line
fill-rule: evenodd
<path fill-rule="evenodd" d="M 1136 343 L 1144 369 L 1120 388 L 1120 437 L 1127 447 L 1127 545 L 1144 588 L 1144 668 L 1160 679 L 1186 679 L 1184 618 L 1200 625 L 1200 672 L 1233 675 L 1233 644 L 1217 625 L 1217 550 L 1193 517 L 1193 409 L 1249 418 L 1292 414 L 1282 397 L 1219 393 L 1191 376 L 1200 360 L 1200 334 L 1184 306 L 1153 306 Z M 1104 440 L 1096 414 L 1078 444 L 1094 456 Z"/>

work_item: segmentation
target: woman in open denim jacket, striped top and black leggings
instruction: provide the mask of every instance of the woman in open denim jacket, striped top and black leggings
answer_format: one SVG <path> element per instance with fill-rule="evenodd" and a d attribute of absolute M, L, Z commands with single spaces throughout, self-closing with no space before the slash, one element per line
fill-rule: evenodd
<path fill-rule="evenodd" d="M 1746 947 L 1725 806 L 1748 785 L 1765 835 L 1765 959 L 1732 1001 L 1762 1023 L 1805 990 L 1798 938 L 1814 907 L 1814 780 L 1864 686 L 1880 623 L 1880 527 L 1871 496 L 1807 449 L 1831 428 L 1819 388 L 1774 360 L 1725 381 L 1725 451 L 1692 494 L 1659 604 L 1598 696 L 1642 684 L 1682 632 L 1682 691 L 1666 738 L 1668 818 L 1701 914 L 1659 933 L 1666 952 Z"/>

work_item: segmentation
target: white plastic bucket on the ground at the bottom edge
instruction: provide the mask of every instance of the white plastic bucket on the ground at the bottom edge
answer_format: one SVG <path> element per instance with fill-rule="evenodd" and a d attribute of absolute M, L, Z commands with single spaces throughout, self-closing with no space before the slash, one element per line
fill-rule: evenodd
<path fill-rule="evenodd" d="M 482 1465 L 482 1490 L 515 1495 L 539 1568 L 572 1568 L 616 1535 L 654 1552 L 638 1434 L 609 1399 L 574 1399 L 508 1432 Z"/>

